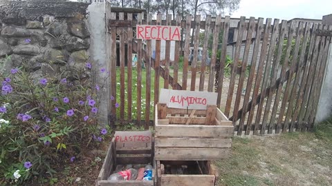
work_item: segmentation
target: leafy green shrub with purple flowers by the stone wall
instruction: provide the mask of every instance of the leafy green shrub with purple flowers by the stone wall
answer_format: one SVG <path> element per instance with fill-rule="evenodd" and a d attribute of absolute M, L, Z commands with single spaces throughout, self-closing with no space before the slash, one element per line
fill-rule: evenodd
<path fill-rule="evenodd" d="M 0 185 L 53 176 L 55 167 L 111 133 L 98 120 L 104 68 L 89 62 L 62 68 L 37 79 L 24 68 L 0 74 Z"/>

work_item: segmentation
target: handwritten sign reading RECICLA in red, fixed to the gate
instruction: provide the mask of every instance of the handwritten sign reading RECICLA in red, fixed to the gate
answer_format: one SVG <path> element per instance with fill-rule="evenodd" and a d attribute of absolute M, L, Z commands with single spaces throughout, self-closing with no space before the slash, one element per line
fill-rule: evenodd
<path fill-rule="evenodd" d="M 137 39 L 181 41 L 179 26 L 136 25 Z"/>

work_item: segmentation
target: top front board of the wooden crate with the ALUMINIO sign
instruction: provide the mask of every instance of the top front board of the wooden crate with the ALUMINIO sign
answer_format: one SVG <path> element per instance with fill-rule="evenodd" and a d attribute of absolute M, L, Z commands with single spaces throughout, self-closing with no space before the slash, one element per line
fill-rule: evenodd
<path fill-rule="evenodd" d="M 233 136 L 233 126 L 216 125 L 156 125 L 156 137 L 211 137 Z"/>

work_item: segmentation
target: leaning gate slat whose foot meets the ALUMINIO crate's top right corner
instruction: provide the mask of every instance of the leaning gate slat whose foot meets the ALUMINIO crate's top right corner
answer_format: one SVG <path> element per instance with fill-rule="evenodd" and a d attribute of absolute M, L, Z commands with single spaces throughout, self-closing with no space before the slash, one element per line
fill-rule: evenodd
<path fill-rule="evenodd" d="M 232 66 L 232 74 L 230 75 L 230 87 L 228 89 L 227 101 L 226 101 L 226 106 L 225 106 L 225 115 L 226 116 L 230 115 L 230 105 L 232 104 L 235 79 L 237 76 L 237 74 L 236 74 L 237 73 L 237 64 L 239 62 L 239 56 L 240 56 L 240 52 L 241 52 L 242 36 L 243 36 L 243 31 L 246 30 L 245 21 L 246 21 L 246 17 L 241 17 L 239 25 L 237 26 L 237 30 L 238 30 L 237 43 L 235 44 L 235 54 L 234 54 L 234 60 L 233 60 L 233 66 Z"/>

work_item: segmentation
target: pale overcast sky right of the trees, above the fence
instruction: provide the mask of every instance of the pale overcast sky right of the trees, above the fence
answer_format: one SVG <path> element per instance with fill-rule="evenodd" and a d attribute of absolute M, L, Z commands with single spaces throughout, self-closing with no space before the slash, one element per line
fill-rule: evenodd
<path fill-rule="evenodd" d="M 332 14 L 332 0 L 241 0 L 231 17 L 322 19 Z"/>

